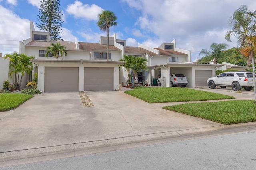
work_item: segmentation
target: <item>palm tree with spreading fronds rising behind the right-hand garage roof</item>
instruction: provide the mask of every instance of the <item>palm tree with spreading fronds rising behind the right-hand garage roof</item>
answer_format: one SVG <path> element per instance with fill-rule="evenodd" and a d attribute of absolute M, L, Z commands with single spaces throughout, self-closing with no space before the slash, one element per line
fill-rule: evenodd
<path fill-rule="evenodd" d="M 220 59 L 230 59 L 234 57 L 233 53 L 223 53 L 223 51 L 228 47 L 225 43 L 212 43 L 210 46 L 210 50 L 202 49 L 199 55 L 204 54 L 205 57 L 202 57 L 199 60 L 199 63 L 204 63 L 208 61 L 214 60 L 214 64 L 217 64 Z"/>

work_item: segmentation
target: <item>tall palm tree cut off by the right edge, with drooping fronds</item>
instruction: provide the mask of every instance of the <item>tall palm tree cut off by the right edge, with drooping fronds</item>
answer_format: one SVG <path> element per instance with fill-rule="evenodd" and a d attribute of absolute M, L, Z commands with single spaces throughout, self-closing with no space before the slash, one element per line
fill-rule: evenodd
<path fill-rule="evenodd" d="M 228 22 L 230 26 L 232 26 L 232 31 L 226 33 L 225 39 L 231 41 L 230 35 L 234 35 L 237 37 L 240 47 L 249 47 L 247 66 L 250 66 L 252 61 L 252 70 L 255 73 L 254 57 L 256 54 L 254 49 L 256 44 L 255 42 L 253 43 L 252 40 L 256 37 L 256 10 L 251 12 L 247 10 L 246 5 L 242 5 L 234 12 Z M 254 79 L 254 102 L 256 103 L 255 74 L 252 75 Z"/>

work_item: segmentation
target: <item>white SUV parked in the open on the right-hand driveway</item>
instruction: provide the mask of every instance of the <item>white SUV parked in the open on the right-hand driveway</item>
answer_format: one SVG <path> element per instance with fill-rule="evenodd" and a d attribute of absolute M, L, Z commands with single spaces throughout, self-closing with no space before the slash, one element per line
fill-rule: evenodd
<path fill-rule="evenodd" d="M 209 88 L 232 87 L 234 91 L 244 88 L 247 91 L 253 89 L 252 72 L 223 72 L 216 77 L 208 78 L 207 80 Z"/>

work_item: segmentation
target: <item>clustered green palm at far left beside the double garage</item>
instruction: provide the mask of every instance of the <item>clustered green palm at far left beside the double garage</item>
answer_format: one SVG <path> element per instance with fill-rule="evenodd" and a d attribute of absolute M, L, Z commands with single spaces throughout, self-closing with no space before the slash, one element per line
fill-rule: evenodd
<path fill-rule="evenodd" d="M 29 59 L 34 59 L 34 57 L 27 57 L 25 54 L 14 52 L 12 54 L 4 55 L 4 58 L 10 60 L 9 76 L 12 78 L 12 75 L 14 74 L 14 86 L 16 89 L 20 89 L 22 77 L 25 72 L 29 74 L 33 70 L 32 62 Z"/>

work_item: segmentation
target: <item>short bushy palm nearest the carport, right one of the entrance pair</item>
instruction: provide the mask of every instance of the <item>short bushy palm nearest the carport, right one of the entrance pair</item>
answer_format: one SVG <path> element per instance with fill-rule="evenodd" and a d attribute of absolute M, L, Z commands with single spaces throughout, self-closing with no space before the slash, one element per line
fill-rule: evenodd
<path fill-rule="evenodd" d="M 148 60 L 145 58 L 134 57 L 134 60 L 132 61 L 132 64 L 131 64 L 131 68 L 135 75 L 135 78 L 134 78 L 135 84 L 138 83 L 138 72 L 149 70 L 149 68 L 147 66 L 147 61 Z"/>

